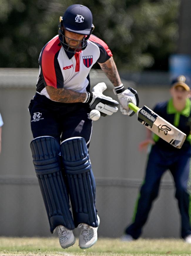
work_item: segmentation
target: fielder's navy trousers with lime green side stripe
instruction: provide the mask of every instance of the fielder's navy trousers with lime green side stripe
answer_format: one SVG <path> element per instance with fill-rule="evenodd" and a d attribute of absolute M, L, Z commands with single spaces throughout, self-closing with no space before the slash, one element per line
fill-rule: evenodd
<path fill-rule="evenodd" d="M 157 198 L 160 180 L 164 172 L 169 169 L 172 173 L 178 200 L 178 207 L 181 215 L 181 237 L 191 234 L 191 224 L 189 216 L 190 205 L 190 149 L 187 151 L 169 152 L 161 150 L 154 145 L 148 157 L 145 180 L 140 189 L 138 204 L 135 209 L 133 223 L 125 230 L 134 239 L 138 239 L 142 233 L 142 228 L 148 219 L 153 200 Z"/>

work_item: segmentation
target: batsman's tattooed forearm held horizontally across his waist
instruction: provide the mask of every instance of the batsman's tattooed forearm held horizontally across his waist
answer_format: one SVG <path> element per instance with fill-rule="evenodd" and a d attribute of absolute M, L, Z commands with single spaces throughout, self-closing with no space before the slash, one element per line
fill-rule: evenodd
<path fill-rule="evenodd" d="M 46 90 L 51 100 L 63 103 L 83 102 L 86 99 L 86 93 L 74 92 L 64 88 L 56 89 L 52 86 L 46 86 Z"/>

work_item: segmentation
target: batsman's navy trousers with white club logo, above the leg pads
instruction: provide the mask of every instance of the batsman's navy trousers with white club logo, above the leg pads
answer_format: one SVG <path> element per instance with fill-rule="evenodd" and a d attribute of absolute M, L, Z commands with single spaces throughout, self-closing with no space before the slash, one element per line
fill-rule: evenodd
<path fill-rule="evenodd" d="M 89 147 L 92 134 L 90 108 L 85 103 L 61 103 L 36 93 L 29 105 L 33 138 L 52 136 L 58 143 L 71 137 L 82 137 Z"/>

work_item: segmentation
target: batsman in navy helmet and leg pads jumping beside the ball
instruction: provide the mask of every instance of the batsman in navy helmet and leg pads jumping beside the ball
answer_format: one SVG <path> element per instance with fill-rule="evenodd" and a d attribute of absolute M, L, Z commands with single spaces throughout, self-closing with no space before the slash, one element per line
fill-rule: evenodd
<path fill-rule="evenodd" d="M 123 114 L 133 112 L 128 102 L 137 104 L 136 91 L 121 83 L 108 45 L 92 34 L 92 20 L 91 11 L 81 4 L 69 6 L 60 17 L 58 35 L 40 53 L 36 94 L 29 105 L 33 164 L 50 231 L 57 228 L 64 249 L 75 243 L 77 227 L 81 249 L 97 241 L 100 220 L 88 154 L 93 123 L 89 113 L 97 109 L 105 116 L 118 110 L 118 102 L 103 95 L 105 83 L 90 91 L 93 64 L 98 62 L 113 83 Z"/>

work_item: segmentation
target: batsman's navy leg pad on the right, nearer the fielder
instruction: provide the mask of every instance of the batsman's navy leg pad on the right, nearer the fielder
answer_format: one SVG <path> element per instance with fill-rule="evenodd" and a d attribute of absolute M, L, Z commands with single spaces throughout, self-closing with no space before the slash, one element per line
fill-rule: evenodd
<path fill-rule="evenodd" d="M 61 151 L 75 226 L 86 223 L 97 227 L 96 186 L 86 141 L 81 137 L 67 139 L 61 143 Z"/>

